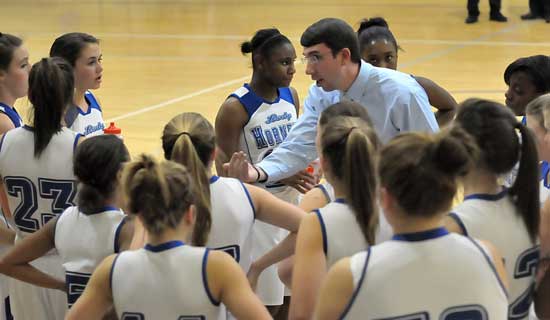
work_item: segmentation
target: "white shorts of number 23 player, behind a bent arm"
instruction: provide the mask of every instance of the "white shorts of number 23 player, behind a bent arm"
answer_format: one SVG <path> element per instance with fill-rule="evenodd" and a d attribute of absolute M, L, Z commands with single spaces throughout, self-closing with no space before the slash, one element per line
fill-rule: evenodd
<path fill-rule="evenodd" d="M 65 278 L 61 258 L 50 254 L 31 263 L 34 267 L 58 279 Z M 9 280 L 11 311 L 17 320 L 62 320 L 67 312 L 67 294 L 22 282 Z"/>

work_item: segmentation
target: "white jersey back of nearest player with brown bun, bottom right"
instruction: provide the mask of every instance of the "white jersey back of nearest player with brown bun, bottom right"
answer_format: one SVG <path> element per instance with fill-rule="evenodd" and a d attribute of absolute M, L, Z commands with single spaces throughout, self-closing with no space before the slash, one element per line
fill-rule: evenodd
<path fill-rule="evenodd" d="M 445 229 L 394 236 L 350 260 L 341 319 L 506 319 L 506 291 L 477 241 Z"/>

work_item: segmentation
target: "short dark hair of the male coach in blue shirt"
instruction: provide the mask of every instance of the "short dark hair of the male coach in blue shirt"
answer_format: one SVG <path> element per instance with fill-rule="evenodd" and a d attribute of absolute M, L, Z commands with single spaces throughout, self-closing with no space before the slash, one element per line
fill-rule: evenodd
<path fill-rule="evenodd" d="M 361 62 L 359 43 L 353 28 L 345 21 L 336 18 L 321 19 L 302 34 L 300 44 L 304 47 L 311 47 L 324 43 L 336 56 L 344 48 L 348 48 L 351 54 L 351 61 Z"/>

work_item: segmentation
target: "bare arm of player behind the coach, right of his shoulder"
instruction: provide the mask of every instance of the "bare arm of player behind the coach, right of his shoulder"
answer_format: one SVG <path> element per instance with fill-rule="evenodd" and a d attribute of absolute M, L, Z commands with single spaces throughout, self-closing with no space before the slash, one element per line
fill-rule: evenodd
<path fill-rule="evenodd" d="M 430 104 L 437 109 L 435 118 L 442 127 L 450 123 L 456 114 L 458 104 L 451 94 L 437 83 L 423 77 L 415 77 L 416 81 L 424 88 Z"/>

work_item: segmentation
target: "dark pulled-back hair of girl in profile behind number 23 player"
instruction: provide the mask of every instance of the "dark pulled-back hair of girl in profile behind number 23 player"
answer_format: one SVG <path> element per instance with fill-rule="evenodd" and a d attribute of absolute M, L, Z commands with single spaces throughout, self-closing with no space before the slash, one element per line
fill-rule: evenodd
<path fill-rule="evenodd" d="M 50 57 L 61 57 L 74 67 L 82 49 L 91 43 L 99 43 L 99 40 L 82 32 L 66 33 L 55 39 L 50 48 Z"/>

